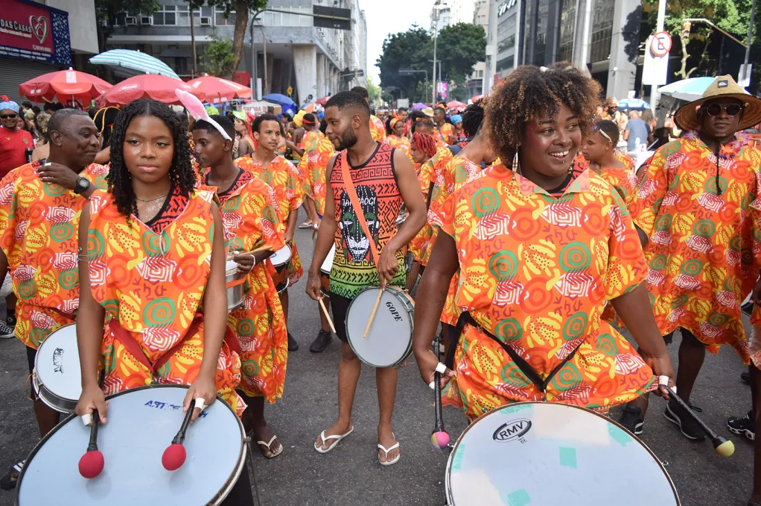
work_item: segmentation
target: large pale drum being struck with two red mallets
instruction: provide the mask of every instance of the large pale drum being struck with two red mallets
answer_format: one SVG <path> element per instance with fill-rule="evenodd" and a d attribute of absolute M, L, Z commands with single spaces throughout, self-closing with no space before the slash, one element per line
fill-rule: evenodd
<path fill-rule="evenodd" d="M 183 422 L 186 393 L 187 387 L 150 385 L 108 396 L 108 423 L 97 434 L 105 466 L 94 479 L 78 472 L 90 428 L 77 415 L 69 416 L 30 453 L 18 477 L 16 504 L 132 506 L 161 498 L 166 504 L 220 504 L 246 457 L 243 425 L 220 398 L 189 425 L 183 466 L 173 472 L 161 466 L 161 455 Z"/>

